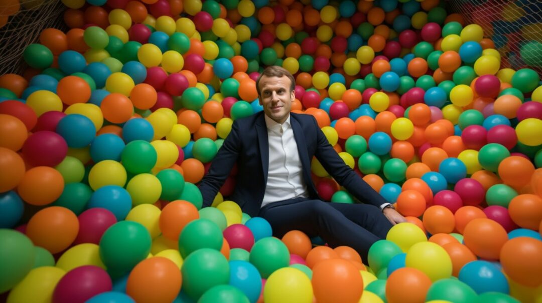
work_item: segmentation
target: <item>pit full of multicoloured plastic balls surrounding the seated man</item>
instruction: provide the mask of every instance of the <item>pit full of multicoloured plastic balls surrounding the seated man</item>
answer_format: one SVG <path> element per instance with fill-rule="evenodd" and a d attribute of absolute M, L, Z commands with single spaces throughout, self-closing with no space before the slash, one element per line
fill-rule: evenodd
<path fill-rule="evenodd" d="M 0 76 L 0 292 L 540 300 L 542 87 L 520 67 L 542 54 L 501 32 L 517 4 L 487 22 L 471 2 L 459 15 L 439 0 L 63 1 L 70 30 L 43 30 L 24 75 Z M 367 260 L 300 230 L 273 238 L 227 200 L 236 168 L 201 209 L 197 183 L 233 122 L 263 110 L 269 65 L 296 80 L 292 112 L 410 222 Z M 353 202 L 318 159 L 311 170 L 324 200 Z"/>

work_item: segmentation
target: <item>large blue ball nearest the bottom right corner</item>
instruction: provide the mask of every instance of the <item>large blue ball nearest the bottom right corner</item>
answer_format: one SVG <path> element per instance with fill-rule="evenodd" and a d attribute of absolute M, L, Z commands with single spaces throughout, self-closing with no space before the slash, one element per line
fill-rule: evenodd
<path fill-rule="evenodd" d="M 508 294 L 508 280 L 498 267 L 487 261 L 472 261 L 465 264 L 457 276 L 476 293 L 499 292 Z"/>

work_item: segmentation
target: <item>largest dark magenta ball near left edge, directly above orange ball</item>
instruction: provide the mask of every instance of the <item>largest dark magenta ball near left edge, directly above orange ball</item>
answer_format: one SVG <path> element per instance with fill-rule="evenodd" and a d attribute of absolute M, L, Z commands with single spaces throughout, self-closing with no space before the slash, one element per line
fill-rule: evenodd
<path fill-rule="evenodd" d="M 53 131 L 36 131 L 24 141 L 24 159 L 33 166 L 57 166 L 67 154 L 66 140 Z"/>

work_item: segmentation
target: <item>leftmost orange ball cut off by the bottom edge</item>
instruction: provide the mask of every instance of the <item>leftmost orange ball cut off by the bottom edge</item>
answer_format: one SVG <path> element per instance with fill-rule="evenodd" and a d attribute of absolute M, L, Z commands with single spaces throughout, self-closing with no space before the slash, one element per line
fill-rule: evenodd
<path fill-rule="evenodd" d="M 154 256 L 139 262 L 128 275 L 126 294 L 137 302 L 172 302 L 180 291 L 179 268 L 170 259 Z"/>

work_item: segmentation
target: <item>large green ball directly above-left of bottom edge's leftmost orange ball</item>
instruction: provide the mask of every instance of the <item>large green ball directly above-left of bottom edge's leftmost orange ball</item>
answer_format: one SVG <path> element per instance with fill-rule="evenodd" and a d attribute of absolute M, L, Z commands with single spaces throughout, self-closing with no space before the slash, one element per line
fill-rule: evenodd
<path fill-rule="evenodd" d="M 100 258 L 108 270 L 129 272 L 151 252 L 149 231 L 140 223 L 120 221 L 109 227 L 100 239 Z"/>

